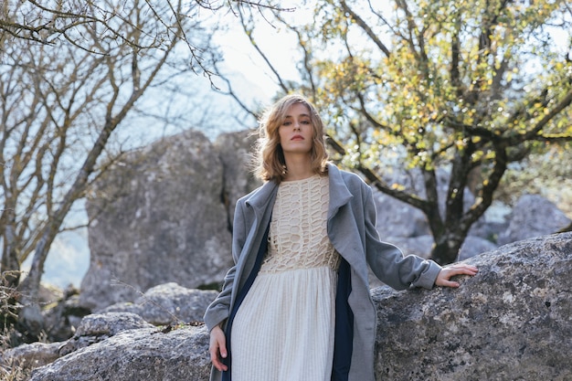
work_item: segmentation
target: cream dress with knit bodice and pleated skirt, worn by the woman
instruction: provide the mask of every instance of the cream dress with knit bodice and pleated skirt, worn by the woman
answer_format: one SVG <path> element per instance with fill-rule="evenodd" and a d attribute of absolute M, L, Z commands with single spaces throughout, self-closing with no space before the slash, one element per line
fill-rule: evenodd
<path fill-rule="evenodd" d="M 268 253 L 232 325 L 233 381 L 329 381 L 339 255 L 328 177 L 282 182 Z"/>

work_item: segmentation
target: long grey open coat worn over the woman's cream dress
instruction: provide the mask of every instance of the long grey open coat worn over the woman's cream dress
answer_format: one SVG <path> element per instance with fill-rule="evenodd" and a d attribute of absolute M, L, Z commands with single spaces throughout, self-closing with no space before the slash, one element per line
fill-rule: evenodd
<path fill-rule="evenodd" d="M 395 246 L 379 240 L 372 190 L 360 177 L 340 171 L 333 164 L 328 166 L 328 175 L 328 237 L 351 269 L 348 304 L 354 313 L 354 349 L 349 381 L 374 381 L 376 307 L 369 292 L 367 265 L 379 280 L 396 290 L 431 289 L 440 266 L 416 256 L 404 257 Z M 228 318 L 238 290 L 254 267 L 277 190 L 274 182 L 268 182 L 237 202 L 232 238 L 236 265 L 228 270 L 223 290 L 205 313 L 209 331 Z M 213 370 L 211 380 L 220 379 L 220 373 L 214 367 Z"/>

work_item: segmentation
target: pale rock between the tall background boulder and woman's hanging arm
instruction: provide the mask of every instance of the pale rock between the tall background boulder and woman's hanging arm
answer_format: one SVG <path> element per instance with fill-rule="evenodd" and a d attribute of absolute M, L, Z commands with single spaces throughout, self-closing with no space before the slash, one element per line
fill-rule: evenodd
<path fill-rule="evenodd" d="M 176 283 L 165 283 L 149 289 L 135 302 L 120 302 L 101 311 L 132 312 L 154 325 L 191 323 L 203 320 L 208 304 L 217 291 L 191 290 Z"/>

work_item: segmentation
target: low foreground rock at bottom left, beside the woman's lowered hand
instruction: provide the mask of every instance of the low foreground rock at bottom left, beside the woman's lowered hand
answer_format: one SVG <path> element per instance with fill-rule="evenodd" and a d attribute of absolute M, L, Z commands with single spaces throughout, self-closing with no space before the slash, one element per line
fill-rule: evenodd
<path fill-rule="evenodd" d="M 182 327 L 168 333 L 130 330 L 37 368 L 30 381 L 207 380 L 208 333 Z"/>

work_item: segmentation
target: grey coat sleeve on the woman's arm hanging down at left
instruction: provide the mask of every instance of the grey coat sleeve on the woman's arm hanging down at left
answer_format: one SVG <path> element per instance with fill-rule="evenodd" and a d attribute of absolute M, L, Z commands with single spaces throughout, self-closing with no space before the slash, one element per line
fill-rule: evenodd
<path fill-rule="evenodd" d="M 246 239 L 244 228 L 244 204 L 239 200 L 235 208 L 232 234 L 232 259 L 234 260 L 235 265 L 228 270 L 223 282 L 222 291 L 218 294 L 217 299 L 207 307 L 204 320 L 208 331 L 212 330 L 217 326 L 217 324 L 223 323 L 230 313 L 230 300 L 237 270 L 238 257 L 244 247 L 244 240 Z"/>

